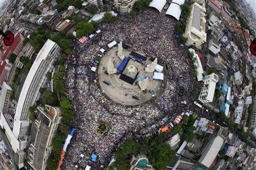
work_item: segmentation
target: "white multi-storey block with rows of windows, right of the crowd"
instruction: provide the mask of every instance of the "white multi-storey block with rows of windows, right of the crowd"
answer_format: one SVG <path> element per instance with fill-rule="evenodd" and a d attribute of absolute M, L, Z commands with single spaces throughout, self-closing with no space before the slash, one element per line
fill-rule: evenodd
<path fill-rule="evenodd" d="M 203 78 L 204 86 L 199 95 L 199 101 L 209 103 L 213 101 L 216 83 L 218 82 L 217 74 L 210 74 Z"/>

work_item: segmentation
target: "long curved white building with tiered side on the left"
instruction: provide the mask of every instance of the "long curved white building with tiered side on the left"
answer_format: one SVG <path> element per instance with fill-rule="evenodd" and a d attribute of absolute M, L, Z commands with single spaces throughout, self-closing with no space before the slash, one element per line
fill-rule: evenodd
<path fill-rule="evenodd" d="M 26 157 L 27 131 L 29 126 L 28 109 L 39 98 L 39 89 L 46 81 L 46 73 L 53 69 L 53 62 L 59 57 L 60 47 L 55 42 L 47 40 L 36 57 L 20 92 L 15 116 L 1 114 L 0 125 L 5 129 L 9 145 L 14 153 L 19 154 L 18 167 L 23 167 Z"/>

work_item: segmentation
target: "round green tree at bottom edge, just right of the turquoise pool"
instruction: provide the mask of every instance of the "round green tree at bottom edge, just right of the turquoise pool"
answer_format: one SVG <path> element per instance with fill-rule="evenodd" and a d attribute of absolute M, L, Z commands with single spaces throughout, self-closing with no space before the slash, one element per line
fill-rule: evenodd
<path fill-rule="evenodd" d="M 175 154 L 170 145 L 163 143 L 153 148 L 148 154 L 148 158 L 153 167 L 163 170 L 172 161 Z"/>

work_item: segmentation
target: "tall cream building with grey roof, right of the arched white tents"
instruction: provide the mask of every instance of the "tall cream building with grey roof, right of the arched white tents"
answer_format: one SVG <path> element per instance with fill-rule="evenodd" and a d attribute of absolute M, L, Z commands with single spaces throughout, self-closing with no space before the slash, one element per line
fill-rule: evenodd
<path fill-rule="evenodd" d="M 183 34 L 187 37 L 187 45 L 200 46 L 207 41 L 207 33 L 205 32 L 205 7 L 198 3 L 193 3 L 191 14 L 188 18 L 187 26 Z"/>

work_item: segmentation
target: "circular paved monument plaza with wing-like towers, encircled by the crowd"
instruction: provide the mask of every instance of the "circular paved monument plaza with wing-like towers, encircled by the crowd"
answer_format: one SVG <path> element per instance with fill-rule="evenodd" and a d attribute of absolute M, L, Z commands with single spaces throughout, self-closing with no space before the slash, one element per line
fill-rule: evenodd
<path fill-rule="evenodd" d="M 120 41 L 102 56 L 97 70 L 98 84 L 115 103 L 139 105 L 162 94 L 167 82 L 165 70 L 158 58 L 130 52 Z"/>

